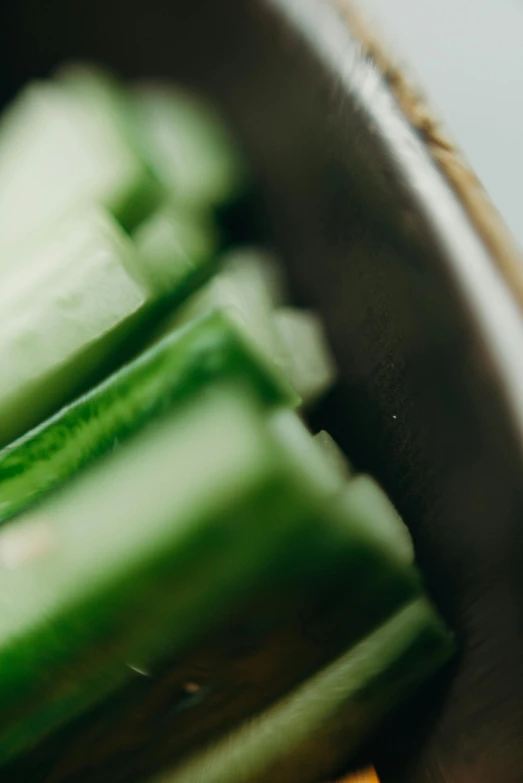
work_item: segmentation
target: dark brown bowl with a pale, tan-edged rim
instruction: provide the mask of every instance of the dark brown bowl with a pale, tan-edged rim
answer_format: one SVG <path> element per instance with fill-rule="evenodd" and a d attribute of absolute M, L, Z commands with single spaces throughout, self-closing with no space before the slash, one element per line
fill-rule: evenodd
<path fill-rule="evenodd" d="M 390 493 L 461 642 L 362 753 L 384 783 L 521 783 L 523 265 L 459 153 L 344 0 L 12 0 L 1 14 L 5 98 L 87 57 L 219 103 L 296 298 L 328 328 L 340 382 L 315 415 Z M 47 743 L 6 779 L 134 779 L 132 752 L 89 766 L 99 736 L 82 732 L 68 771 Z"/>

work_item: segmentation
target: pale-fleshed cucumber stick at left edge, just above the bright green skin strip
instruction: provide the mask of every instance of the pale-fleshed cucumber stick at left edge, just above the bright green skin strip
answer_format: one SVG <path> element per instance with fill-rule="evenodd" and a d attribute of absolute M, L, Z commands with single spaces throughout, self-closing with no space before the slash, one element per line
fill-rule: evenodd
<path fill-rule="evenodd" d="M 130 240 L 81 210 L 13 264 L 0 290 L 0 444 L 78 391 L 150 299 Z"/>

